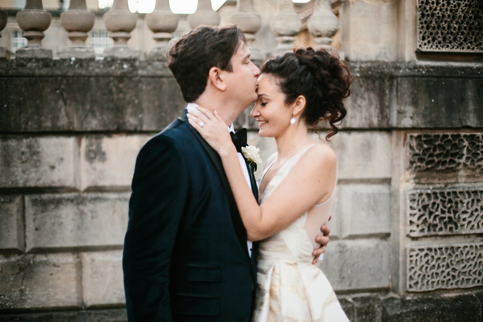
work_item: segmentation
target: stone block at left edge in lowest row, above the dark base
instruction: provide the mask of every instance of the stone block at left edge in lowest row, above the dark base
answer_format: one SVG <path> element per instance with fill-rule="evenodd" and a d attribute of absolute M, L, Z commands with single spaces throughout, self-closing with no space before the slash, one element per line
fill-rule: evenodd
<path fill-rule="evenodd" d="M 0 310 L 81 306 L 74 255 L 0 256 L 0 272 Z"/>

